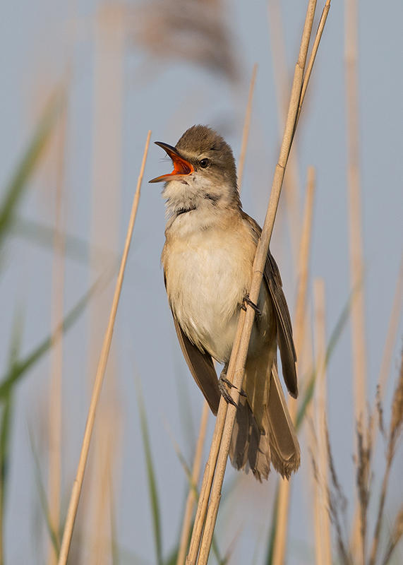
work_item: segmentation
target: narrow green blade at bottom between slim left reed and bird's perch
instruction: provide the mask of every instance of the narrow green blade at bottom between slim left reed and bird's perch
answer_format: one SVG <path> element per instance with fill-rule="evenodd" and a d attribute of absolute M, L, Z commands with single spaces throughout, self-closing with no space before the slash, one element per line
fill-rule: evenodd
<path fill-rule="evenodd" d="M 150 494 L 152 526 L 154 529 L 155 553 L 157 554 L 157 565 L 163 565 L 162 560 L 162 536 L 161 536 L 161 514 L 160 502 L 158 499 L 157 482 L 155 481 L 154 465 L 152 463 L 150 436 L 148 434 L 147 418 L 145 416 L 145 407 L 143 394 L 141 392 L 140 381 L 136 379 L 138 411 L 140 415 L 141 435 L 143 436 L 143 446 L 145 453 L 145 465 L 148 477 L 148 492 Z"/>

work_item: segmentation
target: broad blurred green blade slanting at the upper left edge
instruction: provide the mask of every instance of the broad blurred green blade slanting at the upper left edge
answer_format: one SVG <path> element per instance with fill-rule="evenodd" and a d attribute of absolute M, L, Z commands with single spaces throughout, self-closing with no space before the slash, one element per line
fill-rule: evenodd
<path fill-rule="evenodd" d="M 26 148 L 16 170 L 6 185 L 5 196 L 0 205 L 0 246 L 4 242 L 8 227 L 11 225 L 18 202 L 28 185 L 32 173 L 40 162 L 64 100 L 64 90 L 58 90 L 52 95 L 37 124 L 28 148 Z"/>

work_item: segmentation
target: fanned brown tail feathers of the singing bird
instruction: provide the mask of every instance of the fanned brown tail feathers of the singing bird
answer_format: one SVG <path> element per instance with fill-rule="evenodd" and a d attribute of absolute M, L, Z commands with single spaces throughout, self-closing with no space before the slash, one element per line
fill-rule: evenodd
<path fill-rule="evenodd" d="M 267 359 L 265 359 L 267 362 Z M 249 360 L 239 397 L 229 457 L 236 469 L 251 469 L 258 480 L 267 479 L 270 462 L 289 479 L 299 468 L 300 450 L 275 362 L 266 375 L 263 359 Z M 267 369 L 266 369 L 267 370 Z M 268 372 L 268 371 L 267 371 Z"/>

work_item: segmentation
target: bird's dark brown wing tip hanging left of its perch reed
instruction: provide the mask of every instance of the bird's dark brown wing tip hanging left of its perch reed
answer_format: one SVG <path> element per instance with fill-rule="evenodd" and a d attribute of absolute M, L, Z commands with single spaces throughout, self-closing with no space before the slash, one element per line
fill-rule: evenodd
<path fill-rule="evenodd" d="M 174 316 L 174 313 L 172 313 Z M 207 403 L 209 404 L 214 415 L 217 415 L 218 405 L 219 405 L 219 388 L 217 381 L 217 373 L 215 372 L 214 365 L 212 364 L 211 355 L 208 353 L 202 353 L 196 345 L 191 343 L 191 340 L 184 334 L 179 322 L 174 316 L 174 323 L 176 329 L 176 335 L 178 335 L 179 343 L 181 344 L 181 350 L 186 359 L 193 379 L 198 383 L 200 391 L 205 396 Z"/>

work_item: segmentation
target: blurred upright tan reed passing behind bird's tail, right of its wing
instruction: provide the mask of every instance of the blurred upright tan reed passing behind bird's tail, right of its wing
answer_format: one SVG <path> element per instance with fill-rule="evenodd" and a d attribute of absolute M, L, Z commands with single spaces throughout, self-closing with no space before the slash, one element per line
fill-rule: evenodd
<path fill-rule="evenodd" d="M 311 233 L 313 219 L 313 196 L 315 193 L 315 169 L 308 168 L 308 178 L 306 186 L 306 202 L 303 212 L 303 225 L 300 236 L 299 264 L 298 264 L 298 290 L 295 309 L 294 340 L 297 356 L 297 367 L 301 363 L 301 351 L 303 348 L 303 337 L 305 334 L 306 320 L 306 294 L 308 287 L 308 266 L 311 250 Z M 301 371 L 299 371 L 301 374 Z M 293 422 L 296 420 L 296 401 L 289 400 L 289 412 Z M 273 550 L 273 563 L 282 564 L 285 556 L 285 546 L 287 541 L 287 526 L 289 513 L 290 483 L 282 480 L 279 484 L 279 502 L 277 515 L 277 528 L 275 546 Z"/>

